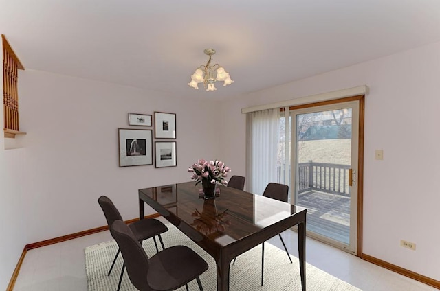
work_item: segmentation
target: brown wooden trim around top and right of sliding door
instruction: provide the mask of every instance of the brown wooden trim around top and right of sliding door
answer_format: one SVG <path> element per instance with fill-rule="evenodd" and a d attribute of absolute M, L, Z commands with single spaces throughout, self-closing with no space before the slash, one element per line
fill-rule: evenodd
<path fill-rule="evenodd" d="M 363 237 L 363 207 L 364 207 L 364 117 L 365 117 L 365 95 L 357 95 L 351 97 L 338 98 L 334 100 L 326 100 L 322 102 L 313 102 L 309 104 L 301 104 L 290 106 L 289 111 L 303 108 L 312 108 L 330 104 L 345 103 L 351 101 L 359 102 L 359 126 L 358 126 L 358 173 L 356 173 L 356 183 L 358 185 L 358 224 L 357 224 L 357 242 L 355 255 L 362 258 L 362 237 Z M 293 165 L 293 163 L 292 163 Z M 295 181 L 292 176 L 291 181 Z"/>

